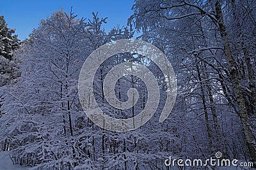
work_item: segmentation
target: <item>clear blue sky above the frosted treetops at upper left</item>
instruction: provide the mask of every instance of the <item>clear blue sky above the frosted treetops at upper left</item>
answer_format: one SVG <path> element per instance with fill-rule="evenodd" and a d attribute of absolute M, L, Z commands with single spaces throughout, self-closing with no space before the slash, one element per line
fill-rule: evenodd
<path fill-rule="evenodd" d="M 41 19 L 63 8 L 72 11 L 77 18 L 92 18 L 92 11 L 99 12 L 99 17 L 108 17 L 104 28 L 108 32 L 112 27 L 126 25 L 133 11 L 133 0 L 12 0 L 1 1 L 0 15 L 4 15 L 8 27 L 15 28 L 19 39 L 28 38 L 33 28 L 38 27 Z"/>

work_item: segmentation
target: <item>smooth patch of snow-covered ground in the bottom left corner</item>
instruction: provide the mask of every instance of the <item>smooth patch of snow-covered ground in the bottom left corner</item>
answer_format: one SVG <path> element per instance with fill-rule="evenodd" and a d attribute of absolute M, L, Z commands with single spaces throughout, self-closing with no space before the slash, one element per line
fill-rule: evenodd
<path fill-rule="evenodd" d="M 0 170 L 27 170 L 26 167 L 13 165 L 8 152 L 0 152 Z"/>

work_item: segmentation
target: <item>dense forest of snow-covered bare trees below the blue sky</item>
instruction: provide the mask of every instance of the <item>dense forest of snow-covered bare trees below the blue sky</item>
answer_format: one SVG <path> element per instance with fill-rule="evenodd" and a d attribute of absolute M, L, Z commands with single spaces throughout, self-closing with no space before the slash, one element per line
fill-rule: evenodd
<path fill-rule="evenodd" d="M 108 16 L 96 11 L 84 18 L 72 8 L 53 11 L 23 41 L 0 16 L 0 153 L 28 169 L 234 168 L 166 164 L 169 157 L 207 160 L 217 153 L 252 162 L 240 169 L 256 168 L 256 1 L 136 0 L 132 10 L 127 25 L 109 32 L 103 29 Z M 109 104 L 104 81 L 120 64 L 127 70 L 142 65 L 159 90 L 154 115 L 118 132 L 84 113 L 78 83 L 88 56 L 120 39 L 161 50 L 172 64 L 177 94 L 172 108 L 160 57 L 124 52 L 102 61 L 86 101 L 94 98 L 104 115 L 129 119 L 152 102 L 147 82 L 125 74 L 112 82 L 113 94 L 125 103 L 136 89 L 136 102 L 124 110 Z M 172 111 L 159 122 L 166 106 Z"/>

